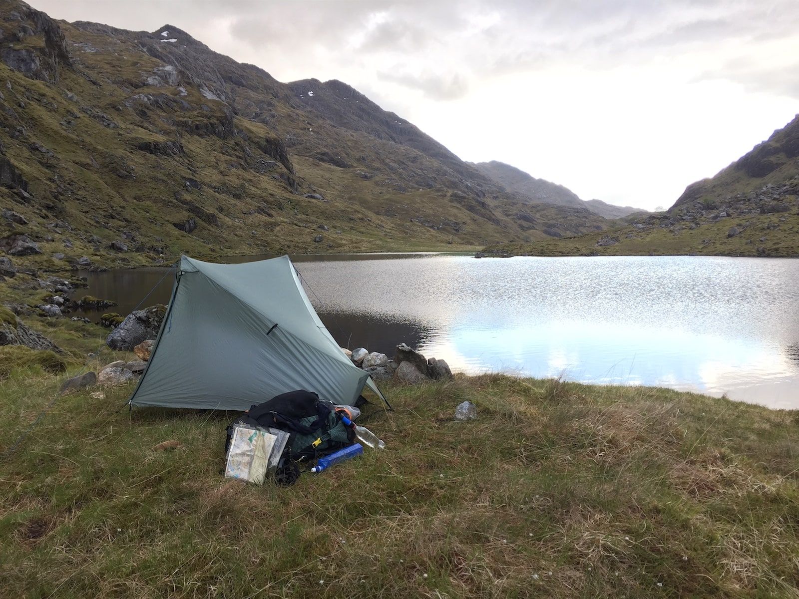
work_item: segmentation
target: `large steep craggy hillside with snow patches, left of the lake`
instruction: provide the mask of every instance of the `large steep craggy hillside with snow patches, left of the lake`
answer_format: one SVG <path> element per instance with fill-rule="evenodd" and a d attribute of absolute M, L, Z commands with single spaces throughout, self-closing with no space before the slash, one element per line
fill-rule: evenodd
<path fill-rule="evenodd" d="M 0 34 L 0 248 L 25 245 L 39 267 L 604 226 L 504 191 L 340 81 L 283 84 L 175 26 L 69 24 L 0 0 Z"/>

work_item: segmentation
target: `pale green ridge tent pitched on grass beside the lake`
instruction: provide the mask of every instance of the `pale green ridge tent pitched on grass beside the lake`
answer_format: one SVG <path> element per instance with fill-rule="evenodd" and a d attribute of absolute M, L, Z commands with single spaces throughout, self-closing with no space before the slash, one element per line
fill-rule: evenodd
<path fill-rule="evenodd" d="M 324 327 L 288 256 L 245 264 L 182 256 L 130 403 L 245 410 L 297 389 L 353 403 L 364 385 L 388 405 Z"/>

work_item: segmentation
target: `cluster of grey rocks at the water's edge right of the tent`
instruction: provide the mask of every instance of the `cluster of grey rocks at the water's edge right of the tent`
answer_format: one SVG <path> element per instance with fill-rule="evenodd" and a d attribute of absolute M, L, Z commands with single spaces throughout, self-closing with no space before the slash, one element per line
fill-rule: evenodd
<path fill-rule="evenodd" d="M 396 347 L 394 359 L 377 351 L 371 353 L 364 347 L 352 351 L 341 348 L 344 354 L 361 370 L 367 371 L 376 381 L 396 380 L 415 385 L 431 380 L 451 379 L 452 371 L 443 359 L 425 358 L 406 343 Z"/>

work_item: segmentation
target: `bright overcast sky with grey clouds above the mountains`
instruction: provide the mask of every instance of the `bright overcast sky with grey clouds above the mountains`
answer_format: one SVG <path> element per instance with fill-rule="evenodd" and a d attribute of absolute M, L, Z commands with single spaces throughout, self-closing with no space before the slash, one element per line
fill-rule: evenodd
<path fill-rule="evenodd" d="M 467 161 L 653 209 L 799 113 L 797 0 L 31 0 L 340 79 Z"/>

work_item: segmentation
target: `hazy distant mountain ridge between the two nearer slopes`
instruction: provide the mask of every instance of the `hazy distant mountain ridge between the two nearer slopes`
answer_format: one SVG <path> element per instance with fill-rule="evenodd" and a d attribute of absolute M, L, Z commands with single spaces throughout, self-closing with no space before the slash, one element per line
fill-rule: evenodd
<path fill-rule="evenodd" d="M 642 212 L 641 208 L 614 206 L 602 200 L 581 200 L 569 188 L 544 179 L 536 179 L 523 170 L 504 162 L 478 162 L 474 166 L 508 191 L 517 192 L 532 202 L 587 208 L 590 212 L 606 219 L 622 218 L 622 216 L 630 215 L 633 212 Z"/>

